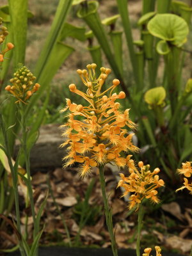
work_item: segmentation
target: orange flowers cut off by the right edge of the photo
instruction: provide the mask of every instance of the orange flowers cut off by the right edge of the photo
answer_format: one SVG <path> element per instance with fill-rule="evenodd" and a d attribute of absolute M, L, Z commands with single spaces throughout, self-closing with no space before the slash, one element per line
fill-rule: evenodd
<path fill-rule="evenodd" d="M 192 166 L 191 166 L 192 162 L 186 162 L 186 163 L 182 163 L 182 168 L 178 169 L 177 172 L 179 174 L 183 174 L 185 177 L 190 178 L 192 175 Z M 190 183 L 188 179 L 184 178 L 184 186 L 182 186 L 181 188 L 177 189 L 177 191 L 182 190 L 184 188 L 188 189 L 190 191 L 190 194 L 192 194 L 192 182 Z"/>

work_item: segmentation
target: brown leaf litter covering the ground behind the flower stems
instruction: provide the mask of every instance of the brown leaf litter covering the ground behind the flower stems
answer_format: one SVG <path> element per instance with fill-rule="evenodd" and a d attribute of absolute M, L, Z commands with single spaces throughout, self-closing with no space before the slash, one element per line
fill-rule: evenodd
<path fill-rule="evenodd" d="M 85 207 L 84 222 L 80 232 L 80 243 L 78 246 L 110 247 L 109 234 L 105 223 L 105 217 L 102 206 L 102 193 L 100 191 L 99 176 L 97 168 L 95 174 L 89 179 L 79 179 L 79 175 L 74 168 L 63 170 L 56 168 L 54 172 L 40 173 L 33 175 L 33 188 L 36 195 L 35 209 L 38 211 L 40 204 L 44 200 L 47 189 L 51 186 L 52 196 L 49 193 L 47 204 L 42 214 L 41 223 L 45 223 L 44 236 L 41 244 L 56 245 L 63 244 L 67 246 L 68 237 L 63 227 L 62 218 L 64 218 L 67 228 L 70 232 L 72 244 L 76 241 L 79 232 L 81 215 L 83 212 L 84 196 L 92 179 L 95 179 L 92 191 L 88 197 L 88 204 Z M 106 191 L 108 193 L 109 204 L 113 212 L 113 224 L 118 248 L 136 248 L 136 223 L 137 214 L 131 214 L 127 217 L 127 202 L 120 198 L 122 191 L 116 189 L 117 180 L 111 168 L 106 167 Z M 47 180 L 49 179 L 50 185 Z M 54 204 L 58 205 L 58 209 Z M 29 207 L 24 207 L 24 194 L 20 189 L 20 204 L 22 205 L 21 223 L 24 230 L 26 213 L 28 217 L 29 241 L 32 241 L 33 220 L 30 216 Z M 145 225 L 143 226 L 142 236 L 156 237 L 159 246 L 164 246 L 167 250 L 176 249 L 180 253 L 189 255 L 192 245 L 192 214 L 191 209 L 181 209 L 177 202 L 161 205 L 165 217 L 165 223 L 161 220 L 155 220 L 156 226 L 150 227 L 148 224 L 148 214 L 145 212 Z M 183 211 L 184 210 L 184 211 Z M 162 210 L 161 210 L 162 211 Z M 14 218 L 14 212 L 10 218 Z M 153 215 L 153 214 L 152 214 Z M 152 216 L 152 218 L 156 218 Z M 172 219 L 174 221 L 172 221 Z M 172 225 L 166 225 L 172 223 Z M 167 227 L 168 226 L 168 227 Z M 12 248 L 17 239 L 15 234 L 11 233 L 9 227 L 1 230 L 1 249 Z M 142 240 L 142 239 L 141 239 Z M 141 241 L 142 242 L 142 241 Z M 151 244 L 150 246 L 153 246 Z M 141 243 L 141 246 L 146 246 Z M 147 244 L 148 246 L 148 244 Z"/>

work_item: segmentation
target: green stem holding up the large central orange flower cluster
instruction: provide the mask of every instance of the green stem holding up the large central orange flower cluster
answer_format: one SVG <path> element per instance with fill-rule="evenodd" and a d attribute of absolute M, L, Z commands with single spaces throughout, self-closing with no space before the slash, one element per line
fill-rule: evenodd
<path fill-rule="evenodd" d="M 104 177 L 104 166 L 99 166 L 99 178 L 100 178 L 100 187 L 102 190 L 102 198 L 104 201 L 104 211 L 106 215 L 106 223 L 108 226 L 109 236 L 111 239 L 111 248 L 113 251 L 113 255 L 117 256 L 117 248 L 116 248 L 116 241 L 115 241 L 115 234 L 113 233 L 113 221 L 112 221 L 112 212 L 109 207 L 108 198 L 106 195 L 106 182 Z"/>

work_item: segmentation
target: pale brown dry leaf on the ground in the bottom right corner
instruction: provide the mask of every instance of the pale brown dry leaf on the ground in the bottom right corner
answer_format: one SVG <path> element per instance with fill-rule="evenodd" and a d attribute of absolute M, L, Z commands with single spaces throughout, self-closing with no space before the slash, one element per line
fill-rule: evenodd
<path fill-rule="evenodd" d="M 182 253 L 190 252 L 192 246 L 192 240 L 183 239 L 179 236 L 172 236 L 166 239 L 166 246 L 180 250 Z"/>

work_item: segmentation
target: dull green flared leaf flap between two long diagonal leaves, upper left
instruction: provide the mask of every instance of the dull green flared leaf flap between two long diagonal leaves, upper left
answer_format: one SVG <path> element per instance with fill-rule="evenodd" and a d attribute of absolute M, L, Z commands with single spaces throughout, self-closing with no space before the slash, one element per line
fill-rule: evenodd
<path fill-rule="evenodd" d="M 79 41 L 85 41 L 85 31 L 86 29 L 84 27 L 77 27 L 66 22 L 61 31 L 59 40 L 63 41 L 67 36 L 70 36 L 72 38 L 76 38 Z"/>

